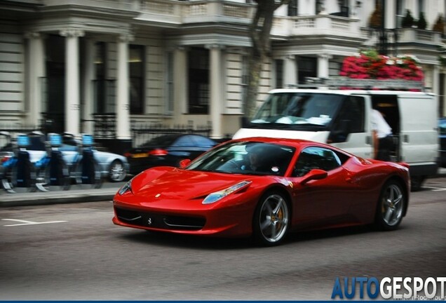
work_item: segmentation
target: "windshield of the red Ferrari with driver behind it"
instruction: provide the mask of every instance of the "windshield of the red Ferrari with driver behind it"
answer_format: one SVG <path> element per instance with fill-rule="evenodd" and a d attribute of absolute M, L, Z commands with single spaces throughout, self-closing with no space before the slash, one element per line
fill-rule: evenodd
<path fill-rule="evenodd" d="M 187 170 L 285 175 L 295 148 L 264 142 L 229 142 L 193 161 Z"/>

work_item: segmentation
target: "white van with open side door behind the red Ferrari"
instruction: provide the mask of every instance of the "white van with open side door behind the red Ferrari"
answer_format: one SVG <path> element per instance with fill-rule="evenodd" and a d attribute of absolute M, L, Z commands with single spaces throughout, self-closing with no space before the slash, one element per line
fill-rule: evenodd
<path fill-rule="evenodd" d="M 373 157 L 370 116 L 379 109 L 392 128 L 393 161 L 410 166 L 412 190 L 438 170 L 438 106 L 431 93 L 396 90 L 271 90 L 234 139 L 286 137 L 325 142 Z"/>

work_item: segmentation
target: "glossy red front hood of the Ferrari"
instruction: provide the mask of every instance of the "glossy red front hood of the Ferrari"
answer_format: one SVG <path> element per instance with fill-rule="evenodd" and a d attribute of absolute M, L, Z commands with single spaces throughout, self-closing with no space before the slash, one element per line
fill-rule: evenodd
<path fill-rule="evenodd" d="M 158 167 L 137 175 L 132 182 L 132 191 L 136 196 L 149 198 L 149 201 L 151 198 L 184 201 L 204 198 L 243 180 L 252 181 L 257 178 L 259 177 Z"/>

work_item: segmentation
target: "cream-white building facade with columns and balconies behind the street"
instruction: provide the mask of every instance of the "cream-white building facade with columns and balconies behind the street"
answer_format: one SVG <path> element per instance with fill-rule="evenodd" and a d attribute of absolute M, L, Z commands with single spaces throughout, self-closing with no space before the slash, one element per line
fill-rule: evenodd
<path fill-rule="evenodd" d="M 2 0 L 0 125 L 46 124 L 79 135 L 102 124 L 123 144 L 138 123 L 211 126 L 211 137 L 231 136 L 243 116 L 251 2 Z M 374 28 L 377 6 L 384 21 Z M 445 116 L 443 34 L 432 30 L 445 6 L 291 0 L 275 12 L 258 102 L 306 76 L 337 76 L 346 56 L 385 46 L 389 55 L 419 59 Z M 402 27 L 407 10 L 415 19 L 424 13 L 426 28 Z"/>

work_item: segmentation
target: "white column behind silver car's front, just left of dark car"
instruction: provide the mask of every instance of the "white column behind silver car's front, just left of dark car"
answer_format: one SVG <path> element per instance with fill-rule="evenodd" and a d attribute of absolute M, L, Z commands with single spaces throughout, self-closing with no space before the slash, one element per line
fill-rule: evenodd
<path fill-rule="evenodd" d="M 131 35 L 121 35 L 117 41 L 116 139 L 118 140 L 129 140 L 131 138 L 128 42 L 132 40 L 133 36 Z"/>

